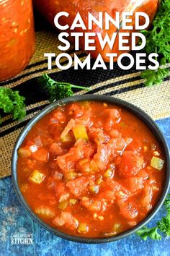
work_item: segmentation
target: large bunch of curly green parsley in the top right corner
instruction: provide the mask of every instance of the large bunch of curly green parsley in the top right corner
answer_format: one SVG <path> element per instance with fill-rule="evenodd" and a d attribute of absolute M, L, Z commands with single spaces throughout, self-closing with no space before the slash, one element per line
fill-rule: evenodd
<path fill-rule="evenodd" d="M 158 9 L 151 30 L 142 30 L 140 33 L 146 36 L 145 51 L 150 54 L 155 52 L 160 57 L 160 64 L 170 62 L 170 1 L 161 0 L 161 7 Z M 146 79 L 144 84 L 152 86 L 160 84 L 169 75 L 168 68 L 159 67 L 156 70 L 145 70 L 141 77 Z"/>

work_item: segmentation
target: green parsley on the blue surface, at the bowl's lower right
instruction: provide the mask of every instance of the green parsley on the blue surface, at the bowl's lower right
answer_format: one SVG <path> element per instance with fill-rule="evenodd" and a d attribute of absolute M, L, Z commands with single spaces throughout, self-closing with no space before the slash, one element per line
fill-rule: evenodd
<path fill-rule="evenodd" d="M 158 221 L 155 227 L 148 228 L 144 226 L 136 232 L 144 241 L 146 241 L 148 237 L 153 240 L 161 240 L 162 236 L 161 233 L 158 233 L 158 230 L 161 231 L 162 234 L 170 236 L 170 194 L 166 197 L 164 207 L 166 208 L 166 216 L 162 217 L 161 221 Z"/>

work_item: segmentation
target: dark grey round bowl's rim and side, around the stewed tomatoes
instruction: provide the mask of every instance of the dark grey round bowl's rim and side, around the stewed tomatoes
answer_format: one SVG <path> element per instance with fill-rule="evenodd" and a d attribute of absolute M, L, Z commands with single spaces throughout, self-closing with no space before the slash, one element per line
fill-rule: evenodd
<path fill-rule="evenodd" d="M 86 237 L 79 237 L 79 236 L 71 236 L 69 234 L 65 234 L 61 231 L 58 231 L 56 229 L 53 229 L 52 227 L 48 226 L 46 223 L 40 220 L 35 213 L 32 212 L 29 205 L 27 205 L 27 202 L 24 200 L 24 197 L 22 196 L 22 193 L 19 190 L 19 185 L 17 182 L 17 150 L 19 149 L 20 145 L 22 144 L 24 138 L 26 137 L 27 133 L 30 131 L 30 129 L 39 121 L 42 119 L 43 116 L 48 114 L 50 111 L 52 111 L 54 108 L 57 108 L 58 106 L 64 105 L 66 103 L 71 103 L 75 101 L 102 101 L 107 103 L 112 103 L 117 106 L 120 106 L 122 108 L 127 109 L 131 113 L 135 114 L 135 116 L 138 116 L 140 120 L 142 120 L 149 129 L 153 132 L 154 135 L 156 135 L 158 142 L 161 145 L 162 150 L 164 150 L 165 158 L 166 158 L 166 179 L 164 184 L 164 191 L 161 194 L 161 197 L 159 198 L 158 202 L 156 203 L 155 207 L 151 211 L 151 213 L 148 214 L 148 216 L 143 219 L 138 225 L 133 227 L 132 229 L 128 231 L 124 231 L 120 234 L 117 234 L 116 236 L 109 236 L 107 238 L 86 238 Z M 126 101 L 122 101 L 117 98 L 104 96 L 104 95 L 76 95 L 70 98 L 64 98 L 63 100 L 56 101 L 55 103 L 52 103 L 48 105 L 46 108 L 44 108 L 42 111 L 40 111 L 37 115 L 35 115 L 29 123 L 24 127 L 22 132 L 20 133 L 16 144 L 14 145 L 14 150 L 12 153 L 12 179 L 14 183 L 14 190 L 17 193 L 17 196 L 19 197 L 19 201 L 22 203 L 22 206 L 27 211 L 28 214 L 42 226 L 44 229 L 47 229 L 51 233 L 62 237 L 63 239 L 68 239 L 73 242 L 81 242 L 81 243 L 91 243 L 91 244 L 97 244 L 97 243 L 104 243 L 104 242 L 112 242 L 117 239 L 122 239 L 125 236 L 128 236 L 130 234 L 133 234 L 135 231 L 140 229 L 142 226 L 146 225 L 148 221 L 155 216 L 155 214 L 158 212 L 159 208 L 161 208 L 161 205 L 163 204 L 166 195 L 169 190 L 169 180 L 170 180 L 170 165 L 169 165 L 169 148 L 166 144 L 166 140 L 164 139 L 164 136 L 162 135 L 160 129 L 156 125 L 156 123 L 151 119 L 148 114 L 146 114 L 144 111 L 140 110 L 140 108 L 132 105 L 131 103 L 128 103 Z"/>

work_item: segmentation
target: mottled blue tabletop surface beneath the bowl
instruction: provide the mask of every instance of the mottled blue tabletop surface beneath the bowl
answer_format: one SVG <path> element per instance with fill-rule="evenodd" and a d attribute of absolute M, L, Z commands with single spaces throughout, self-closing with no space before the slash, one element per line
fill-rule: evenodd
<path fill-rule="evenodd" d="M 164 133 L 170 148 L 170 118 L 156 121 Z M 42 229 L 25 213 L 14 193 L 11 177 L 0 181 L 0 255 L 30 256 L 168 256 L 170 255 L 170 238 L 161 241 L 141 241 L 137 236 L 108 244 L 78 244 L 61 239 Z M 161 208 L 148 226 L 153 226 L 165 213 Z M 12 233 L 24 227 L 33 234 L 33 244 L 12 244 Z"/>

